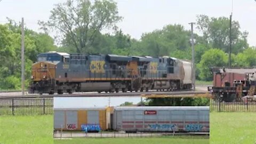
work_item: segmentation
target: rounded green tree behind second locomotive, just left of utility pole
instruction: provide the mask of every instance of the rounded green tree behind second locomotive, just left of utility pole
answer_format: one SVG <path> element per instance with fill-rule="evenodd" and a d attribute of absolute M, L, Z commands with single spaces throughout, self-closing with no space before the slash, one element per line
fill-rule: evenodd
<path fill-rule="evenodd" d="M 184 51 L 190 51 L 189 44 L 190 32 L 181 25 L 167 25 L 161 30 L 154 30 L 151 33 L 145 33 L 141 37 L 140 49 L 143 55 L 153 57 L 172 55 L 172 57 L 191 58 Z"/>

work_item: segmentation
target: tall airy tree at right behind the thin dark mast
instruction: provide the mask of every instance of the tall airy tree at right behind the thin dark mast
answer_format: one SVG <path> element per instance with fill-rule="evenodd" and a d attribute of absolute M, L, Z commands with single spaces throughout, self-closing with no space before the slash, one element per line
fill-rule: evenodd
<path fill-rule="evenodd" d="M 209 43 L 212 47 L 217 47 L 225 52 L 229 50 L 229 23 L 230 20 L 226 17 L 197 16 L 197 28 L 202 31 L 205 43 Z M 231 28 L 232 52 L 241 52 L 248 47 L 248 33 L 240 30 L 238 21 L 232 21 Z"/>

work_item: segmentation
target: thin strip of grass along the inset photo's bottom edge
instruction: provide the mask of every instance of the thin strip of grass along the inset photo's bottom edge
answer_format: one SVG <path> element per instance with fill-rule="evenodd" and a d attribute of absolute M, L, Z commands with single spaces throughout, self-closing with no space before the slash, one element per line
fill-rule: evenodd
<path fill-rule="evenodd" d="M 71 140 L 54 140 L 56 144 L 65 144 L 65 143 L 98 143 L 98 144 L 123 144 L 123 143 L 132 143 L 132 144 L 149 144 L 149 143 L 195 143 L 195 144 L 205 144 L 209 143 L 209 139 L 193 139 L 193 138 L 177 138 L 177 137 L 167 137 L 167 138 L 77 138 Z"/>

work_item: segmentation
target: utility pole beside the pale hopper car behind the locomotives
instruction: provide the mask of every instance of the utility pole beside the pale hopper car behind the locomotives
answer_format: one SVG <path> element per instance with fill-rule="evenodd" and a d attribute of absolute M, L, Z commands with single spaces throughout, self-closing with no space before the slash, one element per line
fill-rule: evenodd
<path fill-rule="evenodd" d="M 193 34 L 193 25 L 196 24 L 195 22 L 190 22 L 188 23 L 191 25 L 191 47 L 192 47 L 192 73 L 191 73 L 191 78 L 192 78 L 192 83 L 193 83 L 193 90 L 196 90 L 196 66 L 195 66 L 195 47 L 194 47 L 194 34 Z"/>

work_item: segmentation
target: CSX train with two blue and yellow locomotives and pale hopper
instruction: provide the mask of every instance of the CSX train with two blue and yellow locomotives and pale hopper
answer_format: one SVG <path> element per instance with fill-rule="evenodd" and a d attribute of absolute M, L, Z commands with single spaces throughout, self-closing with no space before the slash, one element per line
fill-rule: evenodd
<path fill-rule="evenodd" d="M 37 55 L 29 93 L 191 89 L 191 63 L 171 57 L 115 54 Z"/>

